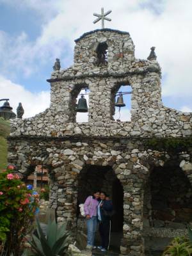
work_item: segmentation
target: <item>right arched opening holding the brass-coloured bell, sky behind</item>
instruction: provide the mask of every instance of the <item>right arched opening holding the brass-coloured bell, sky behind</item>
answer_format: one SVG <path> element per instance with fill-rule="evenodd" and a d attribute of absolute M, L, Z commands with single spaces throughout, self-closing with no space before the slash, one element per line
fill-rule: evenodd
<path fill-rule="evenodd" d="M 131 121 L 131 94 L 129 83 L 117 84 L 111 90 L 111 120 Z"/>

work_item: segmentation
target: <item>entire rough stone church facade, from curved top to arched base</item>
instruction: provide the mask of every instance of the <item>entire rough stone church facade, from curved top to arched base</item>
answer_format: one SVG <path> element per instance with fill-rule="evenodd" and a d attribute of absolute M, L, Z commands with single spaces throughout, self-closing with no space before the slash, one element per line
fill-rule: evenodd
<path fill-rule="evenodd" d="M 104 43 L 108 45 L 108 63 L 98 65 L 97 47 Z M 37 164 L 49 169 L 50 207 L 56 209 L 58 221 L 67 222 L 68 227 L 76 226 L 77 200 L 92 192 L 90 186 L 84 195 L 81 193 L 86 172 L 92 172 L 92 166 L 97 166 L 100 172 L 108 168 L 108 182 L 102 188 L 109 193 L 113 190 L 114 196 L 112 183 L 118 179 L 124 190 L 124 236 L 120 251 L 122 255 L 144 255 L 143 224 L 148 223 L 151 236 L 156 228 L 156 215 L 152 214 L 156 209 L 151 205 L 152 198 L 157 198 L 152 195 L 152 172 L 171 163 L 192 182 L 190 147 L 173 154 L 162 148 L 150 148 L 146 141 L 190 138 L 192 114 L 163 106 L 161 68 L 156 60 L 134 57 L 134 44 L 127 32 L 100 29 L 84 34 L 76 40 L 74 65 L 52 72 L 48 81 L 50 108 L 32 118 L 12 121 L 10 163 L 24 176 L 33 172 Z M 131 122 L 116 122 L 115 93 L 127 84 L 132 88 Z M 88 123 L 77 124 L 76 98 L 82 88 L 90 90 Z M 87 177 L 91 179 L 92 175 Z M 188 186 L 190 198 L 191 183 Z M 188 200 L 182 200 L 187 207 Z"/>

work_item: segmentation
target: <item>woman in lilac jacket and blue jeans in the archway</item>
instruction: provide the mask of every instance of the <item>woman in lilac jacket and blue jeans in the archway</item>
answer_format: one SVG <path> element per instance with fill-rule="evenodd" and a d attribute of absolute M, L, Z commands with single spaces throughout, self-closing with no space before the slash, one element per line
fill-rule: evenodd
<path fill-rule="evenodd" d="M 86 214 L 87 226 L 87 246 L 86 249 L 95 249 L 95 232 L 97 230 L 97 205 L 99 204 L 100 193 L 95 191 L 93 196 L 88 196 L 84 202 L 84 212 Z"/>

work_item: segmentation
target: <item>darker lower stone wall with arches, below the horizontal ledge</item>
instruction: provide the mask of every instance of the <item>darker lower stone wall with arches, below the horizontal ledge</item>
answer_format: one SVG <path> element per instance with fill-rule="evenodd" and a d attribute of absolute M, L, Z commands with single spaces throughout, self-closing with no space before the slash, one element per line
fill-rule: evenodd
<path fill-rule="evenodd" d="M 11 139 L 10 139 L 11 140 Z M 17 154 L 13 154 L 17 148 Z M 26 152 L 26 148 L 28 148 Z M 9 161 L 23 175 L 36 164 L 49 168 L 51 177 L 51 207 L 56 209 L 58 221 L 76 225 L 77 177 L 85 166 L 111 166 L 124 188 L 124 238 L 121 252 L 124 255 L 143 253 L 143 194 L 150 166 L 163 165 L 170 156 L 143 147 L 143 141 L 130 139 L 90 138 L 12 138 Z M 42 153 L 43 152 L 43 153 Z M 184 173 L 192 175 L 191 152 L 179 154 Z M 132 254 L 131 254 L 132 255 Z"/>

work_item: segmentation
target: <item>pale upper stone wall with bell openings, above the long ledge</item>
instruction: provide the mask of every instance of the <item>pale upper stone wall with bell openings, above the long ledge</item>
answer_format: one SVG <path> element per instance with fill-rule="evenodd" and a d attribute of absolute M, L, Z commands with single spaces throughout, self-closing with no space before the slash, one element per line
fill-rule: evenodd
<path fill-rule="evenodd" d="M 97 67 L 95 46 L 107 42 L 108 65 Z M 123 46 L 122 46 L 123 45 Z M 123 47 L 123 48 L 122 48 Z M 76 40 L 74 65 L 52 72 L 51 106 L 44 113 L 12 121 L 11 136 L 189 136 L 191 113 L 166 108 L 161 102 L 161 68 L 156 60 L 134 58 L 129 33 L 102 29 Z M 113 120 L 113 95 L 120 85 L 132 87 L 131 122 Z M 75 103 L 88 87 L 88 123 L 76 124 Z"/>

